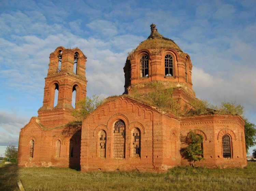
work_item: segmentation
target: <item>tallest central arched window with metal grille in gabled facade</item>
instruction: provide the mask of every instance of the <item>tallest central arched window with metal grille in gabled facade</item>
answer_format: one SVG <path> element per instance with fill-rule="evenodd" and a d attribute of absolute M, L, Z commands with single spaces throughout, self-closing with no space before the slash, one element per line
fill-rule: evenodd
<path fill-rule="evenodd" d="M 125 158 L 125 123 L 122 120 L 113 126 L 113 157 Z"/>

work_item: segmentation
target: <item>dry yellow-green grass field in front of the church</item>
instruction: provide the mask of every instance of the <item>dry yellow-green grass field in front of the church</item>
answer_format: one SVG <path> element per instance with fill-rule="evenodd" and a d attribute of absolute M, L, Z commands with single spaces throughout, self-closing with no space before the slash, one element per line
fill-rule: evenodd
<path fill-rule="evenodd" d="M 0 165 L 0 190 L 256 190 L 256 162 L 244 169 L 176 167 L 165 172 L 80 172 Z"/>

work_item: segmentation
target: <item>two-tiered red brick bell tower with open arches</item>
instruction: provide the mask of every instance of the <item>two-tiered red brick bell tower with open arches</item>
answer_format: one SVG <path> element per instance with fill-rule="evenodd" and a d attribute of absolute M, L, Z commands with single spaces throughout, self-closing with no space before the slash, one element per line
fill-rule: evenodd
<path fill-rule="evenodd" d="M 50 63 L 45 78 L 43 106 L 38 110 L 40 122 L 47 128 L 55 128 L 72 120 L 76 103 L 86 97 L 86 56 L 78 49 L 58 47 L 50 54 Z M 57 98 L 55 98 L 57 96 Z M 57 102 L 57 103 L 55 103 Z"/>

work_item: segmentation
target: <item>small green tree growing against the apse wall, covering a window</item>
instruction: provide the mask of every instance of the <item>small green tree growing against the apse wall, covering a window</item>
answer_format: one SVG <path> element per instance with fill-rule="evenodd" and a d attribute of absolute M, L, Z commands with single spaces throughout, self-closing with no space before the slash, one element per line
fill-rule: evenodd
<path fill-rule="evenodd" d="M 187 159 L 189 162 L 192 162 L 192 166 L 194 167 L 195 161 L 200 161 L 203 158 L 203 150 L 202 150 L 202 143 L 203 143 L 203 137 L 202 135 L 198 135 L 193 131 L 190 131 L 186 142 L 188 143 L 188 146 L 181 149 L 181 154 L 185 159 Z"/>

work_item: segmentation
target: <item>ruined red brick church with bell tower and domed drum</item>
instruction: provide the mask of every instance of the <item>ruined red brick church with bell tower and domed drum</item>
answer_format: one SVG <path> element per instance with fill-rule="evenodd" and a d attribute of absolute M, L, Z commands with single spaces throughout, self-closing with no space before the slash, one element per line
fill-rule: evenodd
<path fill-rule="evenodd" d="M 106 99 L 82 125 L 73 122 L 72 92 L 76 92 L 76 103 L 86 97 L 87 57 L 78 48 L 58 47 L 49 59 L 43 106 L 38 117 L 32 117 L 20 131 L 18 166 L 166 170 L 189 164 L 180 150 L 186 146 L 182 137 L 190 131 L 203 137 L 204 160 L 197 161 L 197 166 L 246 166 L 244 121 L 240 116 L 179 117 L 132 97 L 135 92 L 146 95 L 150 84 L 157 81 L 172 87 L 172 96 L 181 105 L 196 99 L 189 55 L 159 34 L 154 24 L 150 36 L 127 57 L 124 94 Z"/>

